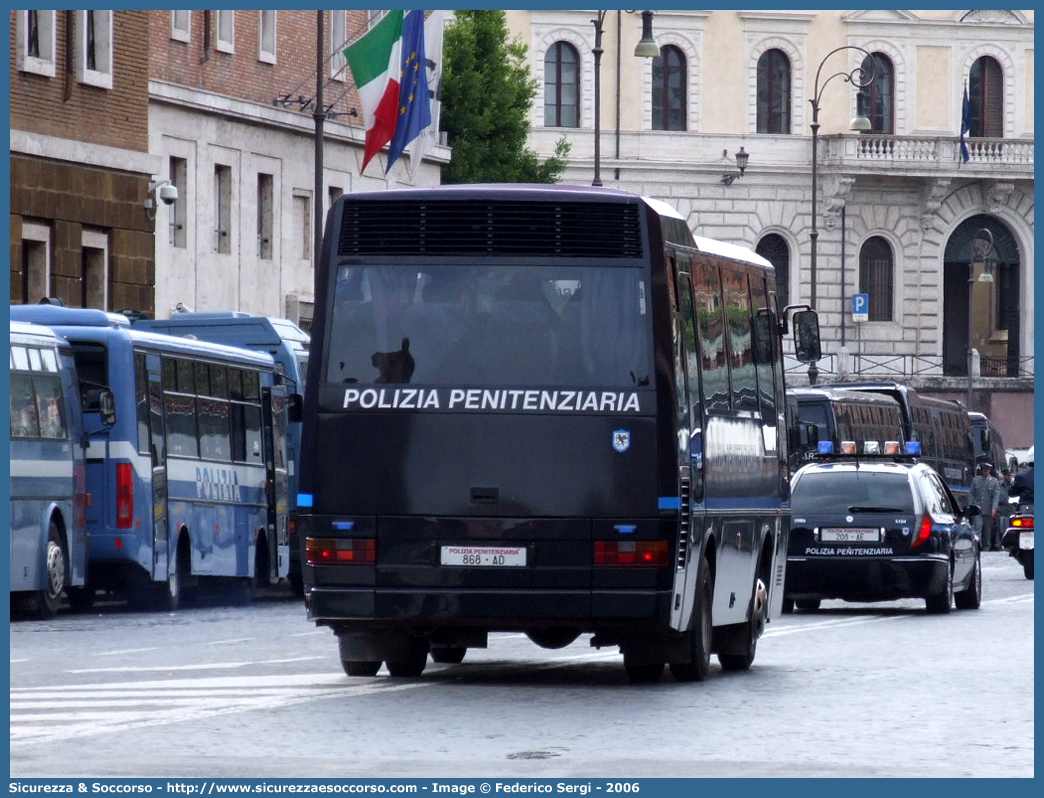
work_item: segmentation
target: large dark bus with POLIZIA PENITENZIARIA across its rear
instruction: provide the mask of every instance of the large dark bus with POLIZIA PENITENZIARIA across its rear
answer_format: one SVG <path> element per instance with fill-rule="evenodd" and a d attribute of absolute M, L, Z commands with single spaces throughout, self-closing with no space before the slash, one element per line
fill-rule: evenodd
<path fill-rule="evenodd" d="M 751 666 L 789 531 L 767 261 L 621 191 L 451 186 L 339 198 L 315 292 L 299 536 L 349 676 L 503 631 Z"/>

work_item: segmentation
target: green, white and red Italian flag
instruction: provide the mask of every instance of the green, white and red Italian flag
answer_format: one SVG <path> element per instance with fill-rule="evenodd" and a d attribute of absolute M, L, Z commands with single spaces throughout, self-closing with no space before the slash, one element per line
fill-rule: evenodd
<path fill-rule="evenodd" d="M 392 141 L 399 122 L 402 17 L 402 10 L 388 11 L 361 39 L 345 48 L 366 125 L 366 151 L 360 173 L 381 147 Z"/>

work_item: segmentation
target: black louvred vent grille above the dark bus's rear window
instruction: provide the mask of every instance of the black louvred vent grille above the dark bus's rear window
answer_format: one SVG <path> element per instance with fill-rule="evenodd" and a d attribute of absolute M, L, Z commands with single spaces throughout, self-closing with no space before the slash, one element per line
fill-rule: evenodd
<path fill-rule="evenodd" d="M 346 202 L 337 255 L 640 258 L 639 205 Z"/>

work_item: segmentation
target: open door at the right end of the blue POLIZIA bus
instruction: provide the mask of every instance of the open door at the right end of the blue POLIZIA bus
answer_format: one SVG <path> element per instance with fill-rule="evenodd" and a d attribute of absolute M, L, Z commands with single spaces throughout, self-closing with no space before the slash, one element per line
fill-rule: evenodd
<path fill-rule="evenodd" d="M 282 579 L 290 569 L 289 489 L 286 460 L 286 385 L 262 389 L 264 403 L 265 496 L 268 502 L 268 562 L 266 579 Z M 260 578 L 260 574 L 258 574 Z"/>

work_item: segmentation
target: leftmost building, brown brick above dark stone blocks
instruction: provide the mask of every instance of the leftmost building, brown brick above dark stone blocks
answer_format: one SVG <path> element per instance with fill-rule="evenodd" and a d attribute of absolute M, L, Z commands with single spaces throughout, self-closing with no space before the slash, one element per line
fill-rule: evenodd
<path fill-rule="evenodd" d="M 151 312 L 148 14 L 9 20 L 10 301 Z"/>

